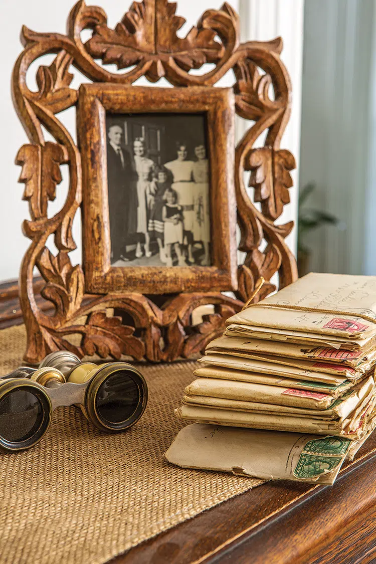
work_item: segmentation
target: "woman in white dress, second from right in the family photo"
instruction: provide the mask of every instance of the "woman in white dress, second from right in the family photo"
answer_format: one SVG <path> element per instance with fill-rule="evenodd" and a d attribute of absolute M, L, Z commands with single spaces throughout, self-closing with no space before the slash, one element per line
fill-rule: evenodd
<path fill-rule="evenodd" d="M 193 161 L 187 161 L 187 143 L 176 143 L 178 156 L 174 161 L 166 162 L 165 168 L 172 173 L 173 188 L 178 194 L 178 204 L 182 206 L 184 221 L 184 243 L 187 241 L 187 262 L 194 263 L 193 245 Z"/>

